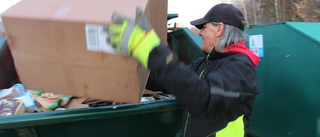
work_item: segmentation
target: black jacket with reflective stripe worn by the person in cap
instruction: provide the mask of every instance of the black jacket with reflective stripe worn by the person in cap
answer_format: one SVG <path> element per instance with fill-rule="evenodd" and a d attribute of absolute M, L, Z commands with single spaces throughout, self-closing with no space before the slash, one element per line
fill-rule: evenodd
<path fill-rule="evenodd" d="M 246 131 L 258 94 L 251 61 L 242 53 L 213 50 L 208 57 L 186 66 L 160 45 L 149 54 L 151 71 L 146 88 L 172 93 L 182 103 L 184 136 L 216 136 L 217 131 L 241 115 Z"/>

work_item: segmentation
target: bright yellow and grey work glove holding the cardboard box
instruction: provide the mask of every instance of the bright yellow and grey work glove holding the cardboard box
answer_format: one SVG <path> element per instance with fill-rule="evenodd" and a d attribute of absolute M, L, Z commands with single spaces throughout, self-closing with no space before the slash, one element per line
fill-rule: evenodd
<path fill-rule="evenodd" d="M 160 38 L 150 25 L 142 9 L 137 8 L 135 23 L 114 13 L 107 26 L 107 41 L 120 53 L 132 55 L 148 67 L 149 53 L 160 45 Z"/>

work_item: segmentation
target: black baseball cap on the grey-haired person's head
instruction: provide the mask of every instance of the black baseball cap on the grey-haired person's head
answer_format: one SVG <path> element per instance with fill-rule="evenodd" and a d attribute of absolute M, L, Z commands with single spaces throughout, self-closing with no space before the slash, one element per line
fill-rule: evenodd
<path fill-rule="evenodd" d="M 242 12 L 231 4 L 218 4 L 212 7 L 208 13 L 200 19 L 191 21 L 191 25 L 201 29 L 205 23 L 222 22 L 231 26 L 244 29 L 244 17 Z"/>

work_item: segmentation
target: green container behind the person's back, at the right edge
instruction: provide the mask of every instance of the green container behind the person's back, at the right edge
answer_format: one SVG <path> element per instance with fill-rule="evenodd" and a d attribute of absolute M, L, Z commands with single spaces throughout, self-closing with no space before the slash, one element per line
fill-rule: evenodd
<path fill-rule="evenodd" d="M 263 36 L 256 67 L 260 93 L 249 131 L 261 137 L 320 137 L 320 23 L 278 22 L 246 32 Z"/>

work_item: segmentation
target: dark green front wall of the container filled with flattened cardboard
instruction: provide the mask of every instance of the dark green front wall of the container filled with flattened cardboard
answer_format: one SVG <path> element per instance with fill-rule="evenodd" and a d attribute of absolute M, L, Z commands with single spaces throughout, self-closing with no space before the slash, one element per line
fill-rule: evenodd
<path fill-rule="evenodd" d="M 151 101 L 0 117 L 0 137 L 174 137 L 182 107 Z"/>

